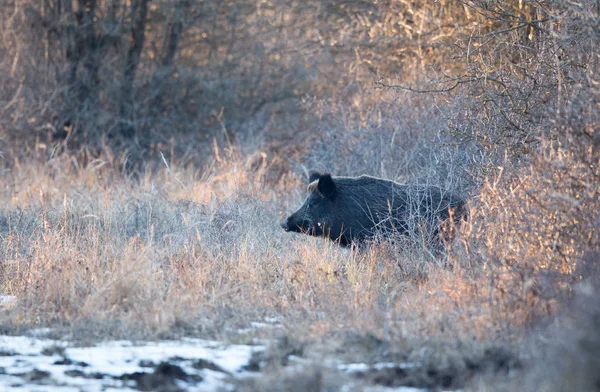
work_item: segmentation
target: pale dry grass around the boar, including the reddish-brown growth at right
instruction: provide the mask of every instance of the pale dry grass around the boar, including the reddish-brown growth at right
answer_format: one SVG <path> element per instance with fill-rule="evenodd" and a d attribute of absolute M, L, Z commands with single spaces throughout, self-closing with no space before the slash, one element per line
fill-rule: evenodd
<path fill-rule="evenodd" d="M 204 170 L 165 160 L 137 176 L 110 155 L 15 161 L 2 174 L 0 290 L 19 300 L 1 322 L 75 339 L 250 341 L 230 331 L 278 317 L 282 330 L 258 333 L 299 339 L 313 358 L 425 363 L 439 377 L 453 369 L 456 387 L 508 374 L 528 327 L 562 308 L 597 243 L 587 213 L 598 210 L 596 180 L 578 171 L 581 157 L 547 151 L 486 182 L 438 255 L 411 238 L 353 251 L 285 233 L 279 221 L 302 201 L 302 179 L 269 181 L 277 159 L 256 165 L 232 146 Z M 551 181 L 567 166 L 577 187 Z M 533 199 L 548 184 L 554 193 Z M 278 372 L 284 384 L 298 377 L 277 369 L 256 388 Z M 344 380 L 310 374 L 325 389 Z M 433 383 L 428 374 L 410 377 Z"/>

